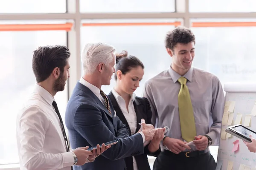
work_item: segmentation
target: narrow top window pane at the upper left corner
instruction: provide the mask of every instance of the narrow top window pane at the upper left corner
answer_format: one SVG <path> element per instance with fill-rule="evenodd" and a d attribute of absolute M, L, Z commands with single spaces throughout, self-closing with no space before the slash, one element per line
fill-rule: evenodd
<path fill-rule="evenodd" d="M 0 13 L 65 13 L 66 0 L 0 0 Z"/>

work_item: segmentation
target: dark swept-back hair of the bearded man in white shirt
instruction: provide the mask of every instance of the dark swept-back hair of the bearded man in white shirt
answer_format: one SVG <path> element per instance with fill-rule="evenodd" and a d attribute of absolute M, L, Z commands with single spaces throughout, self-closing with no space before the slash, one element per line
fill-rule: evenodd
<path fill-rule="evenodd" d="M 46 80 L 56 67 L 60 68 L 62 73 L 69 57 L 70 51 L 64 45 L 38 47 L 38 49 L 33 52 L 32 59 L 32 69 L 35 74 L 36 82 Z"/>

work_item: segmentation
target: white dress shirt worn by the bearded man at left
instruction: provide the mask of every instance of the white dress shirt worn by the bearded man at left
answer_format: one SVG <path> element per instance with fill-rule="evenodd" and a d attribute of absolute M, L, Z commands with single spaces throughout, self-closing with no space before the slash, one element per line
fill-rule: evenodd
<path fill-rule="evenodd" d="M 35 85 L 17 116 L 20 170 L 71 170 L 73 154 L 66 151 L 53 100 L 47 90 Z"/>

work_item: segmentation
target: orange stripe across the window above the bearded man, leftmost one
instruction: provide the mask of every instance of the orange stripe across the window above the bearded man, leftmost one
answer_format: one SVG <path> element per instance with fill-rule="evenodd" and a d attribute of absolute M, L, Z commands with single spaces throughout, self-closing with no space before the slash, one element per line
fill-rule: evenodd
<path fill-rule="evenodd" d="M 0 31 L 70 31 L 73 23 L 64 24 L 8 24 L 0 25 Z"/>

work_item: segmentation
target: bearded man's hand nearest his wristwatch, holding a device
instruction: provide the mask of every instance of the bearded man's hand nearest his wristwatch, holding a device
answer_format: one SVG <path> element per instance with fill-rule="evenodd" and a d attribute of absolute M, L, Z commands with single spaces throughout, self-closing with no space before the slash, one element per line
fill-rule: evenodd
<path fill-rule="evenodd" d="M 83 165 L 85 164 L 87 158 L 90 155 L 93 155 L 93 153 L 89 150 L 87 150 L 89 147 L 78 147 L 75 150 L 73 150 L 73 153 L 76 154 L 77 157 L 77 163 L 76 165 Z"/>

